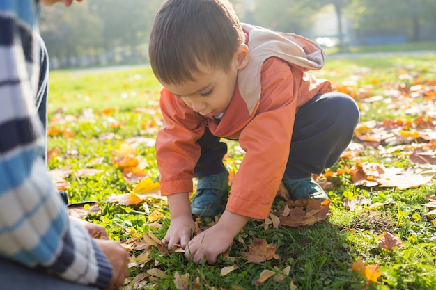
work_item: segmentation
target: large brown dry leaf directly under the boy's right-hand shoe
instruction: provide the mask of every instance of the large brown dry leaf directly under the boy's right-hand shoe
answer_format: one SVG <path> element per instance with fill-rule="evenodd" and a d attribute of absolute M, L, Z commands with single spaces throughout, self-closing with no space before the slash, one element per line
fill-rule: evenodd
<path fill-rule="evenodd" d="M 330 201 L 329 200 L 314 200 L 309 199 L 309 202 L 304 211 L 301 207 L 294 207 L 290 209 L 288 216 L 281 216 L 280 225 L 288 227 L 301 227 L 304 225 L 313 225 L 318 220 L 325 220 L 329 213 Z"/>

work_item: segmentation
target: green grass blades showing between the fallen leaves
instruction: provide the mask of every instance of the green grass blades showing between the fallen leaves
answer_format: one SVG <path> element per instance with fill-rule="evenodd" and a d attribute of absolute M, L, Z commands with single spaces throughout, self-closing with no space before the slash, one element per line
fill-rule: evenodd
<path fill-rule="evenodd" d="M 413 102 L 410 98 L 398 99 L 390 92 L 402 83 L 411 86 L 418 80 L 430 86 L 431 81 L 436 80 L 435 61 L 435 55 L 332 59 L 316 74 L 332 79 L 336 88 L 355 97 L 361 107 L 361 122 L 412 120 L 417 113 L 407 109 L 419 107 L 422 100 L 419 97 L 413 98 Z M 162 239 L 170 223 L 166 202 L 148 200 L 129 207 L 105 202 L 110 195 L 128 193 L 134 186 L 125 182 L 122 170 L 114 166 L 114 150 L 119 150 L 128 138 L 155 138 L 160 120 L 157 109 L 160 86 L 150 68 L 135 67 L 98 74 L 58 71 L 52 72 L 50 79 L 51 127 L 61 131 L 68 127 L 75 134 L 72 138 L 65 138 L 63 134 L 49 138 L 49 150 L 58 152 L 49 161 L 49 168 L 68 166 L 72 170 L 72 175 L 67 178 L 70 202 L 100 202 L 102 214 L 91 214 L 87 219 L 104 225 L 111 239 L 124 241 L 131 238 L 132 233 L 146 234 L 149 230 Z M 390 102 L 366 102 L 375 95 Z M 105 108 L 111 111 L 104 111 Z M 93 113 L 86 110 L 83 113 L 84 109 L 91 109 Z M 120 126 L 112 126 L 114 120 Z M 109 132 L 114 133 L 114 137 L 102 140 L 101 137 Z M 226 164 L 237 170 L 242 156 L 235 150 L 235 143 L 229 142 L 229 145 Z M 153 144 L 141 143 L 135 150 L 137 155 L 146 158 L 144 170 L 147 177 L 157 180 L 159 173 Z M 103 157 L 102 163 L 92 163 L 98 157 Z M 357 159 L 385 166 L 412 166 L 401 153 L 387 158 L 370 147 L 366 147 Z M 357 159 L 340 160 L 331 169 L 336 171 L 336 168 L 353 166 Z M 81 168 L 98 168 L 103 173 L 76 177 L 74 173 Z M 272 229 L 270 225 L 265 230 L 263 221 L 251 220 L 235 238 L 228 255 L 220 255 L 212 266 L 192 264 L 180 253 L 164 255 L 153 248 L 150 252 L 152 261 L 142 268 L 131 268 L 130 280 L 140 273 L 147 273 L 148 269 L 159 268 L 166 277 L 146 277 L 137 289 L 176 289 L 174 275 L 178 272 L 180 275 L 189 274 L 189 289 L 290 289 L 292 282 L 297 289 L 304 290 L 360 290 L 366 287 L 367 280 L 351 268 L 353 262 L 361 258 L 365 264 L 380 264 L 380 284 L 371 283 L 368 289 L 436 289 L 435 225 L 426 216 L 427 209 L 423 206 L 426 195 L 436 193 L 436 186 L 405 190 L 359 188 L 350 183 L 347 174 L 336 178 L 335 184 L 329 191 L 332 204 L 328 224 L 316 223 L 301 228 L 280 226 L 279 229 Z M 359 196 L 371 202 L 389 204 L 375 210 L 348 211 L 342 207 L 345 197 Z M 279 201 L 275 202 L 273 209 L 279 204 Z M 148 220 L 148 213 L 153 210 L 164 214 L 157 220 L 162 229 L 156 229 Z M 388 252 L 378 248 L 377 238 L 384 232 L 400 237 L 403 249 Z M 242 259 L 242 252 L 248 251 L 247 245 L 254 238 L 276 244 L 281 258 L 265 264 L 247 263 Z M 138 256 L 141 251 L 133 253 Z M 239 268 L 228 275 L 220 275 L 221 268 L 233 264 Z M 290 274 L 283 280 L 270 278 L 260 287 L 254 285 L 254 280 L 265 268 L 282 271 L 288 266 Z M 197 283 L 200 288 L 196 287 Z M 126 284 L 125 289 L 134 289 L 132 284 Z"/>

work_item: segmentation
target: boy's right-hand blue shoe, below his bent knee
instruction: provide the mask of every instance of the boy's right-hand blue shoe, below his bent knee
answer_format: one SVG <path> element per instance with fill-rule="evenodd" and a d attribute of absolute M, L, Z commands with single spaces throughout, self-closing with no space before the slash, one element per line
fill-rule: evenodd
<path fill-rule="evenodd" d="M 309 200 L 309 198 L 316 200 L 329 199 L 324 189 L 312 177 L 290 179 L 285 175 L 283 177 L 283 184 L 289 192 L 289 200 Z"/>

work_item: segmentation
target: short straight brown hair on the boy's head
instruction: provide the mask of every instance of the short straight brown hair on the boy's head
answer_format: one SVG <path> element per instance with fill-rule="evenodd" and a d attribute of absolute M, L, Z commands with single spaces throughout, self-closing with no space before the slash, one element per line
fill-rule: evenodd
<path fill-rule="evenodd" d="M 227 71 L 245 40 L 228 0 L 167 0 L 150 35 L 150 64 L 163 83 L 195 81 L 198 65 Z"/>

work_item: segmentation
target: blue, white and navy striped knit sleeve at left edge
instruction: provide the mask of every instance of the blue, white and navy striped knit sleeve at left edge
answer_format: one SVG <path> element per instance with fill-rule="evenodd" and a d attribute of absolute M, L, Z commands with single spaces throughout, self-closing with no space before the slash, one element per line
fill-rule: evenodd
<path fill-rule="evenodd" d="M 104 287 L 111 265 L 86 229 L 69 222 L 41 157 L 36 10 L 35 0 L 0 1 L 0 255 Z"/>

